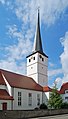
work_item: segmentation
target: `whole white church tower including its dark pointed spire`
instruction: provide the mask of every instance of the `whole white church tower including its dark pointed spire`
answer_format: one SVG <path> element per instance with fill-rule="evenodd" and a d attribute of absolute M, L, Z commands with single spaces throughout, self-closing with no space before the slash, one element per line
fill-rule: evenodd
<path fill-rule="evenodd" d="M 48 85 L 48 56 L 43 52 L 40 34 L 40 19 L 38 10 L 37 29 L 35 34 L 34 49 L 27 56 L 27 76 L 32 77 L 41 86 Z"/>

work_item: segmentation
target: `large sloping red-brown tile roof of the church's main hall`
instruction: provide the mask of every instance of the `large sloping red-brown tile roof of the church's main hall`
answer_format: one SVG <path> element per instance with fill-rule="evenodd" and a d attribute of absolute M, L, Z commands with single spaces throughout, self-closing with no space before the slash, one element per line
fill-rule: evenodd
<path fill-rule="evenodd" d="M 37 84 L 32 78 L 12 73 L 6 70 L 0 70 L 0 75 L 4 75 L 8 83 L 15 88 L 43 91 L 42 86 Z"/>

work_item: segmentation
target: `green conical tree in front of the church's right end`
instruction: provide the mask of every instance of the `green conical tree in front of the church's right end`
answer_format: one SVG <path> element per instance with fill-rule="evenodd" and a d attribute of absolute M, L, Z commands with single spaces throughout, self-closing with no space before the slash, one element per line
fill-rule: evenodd
<path fill-rule="evenodd" d="M 53 109 L 60 109 L 62 104 L 62 98 L 57 91 L 56 85 L 52 89 L 48 106 Z"/>

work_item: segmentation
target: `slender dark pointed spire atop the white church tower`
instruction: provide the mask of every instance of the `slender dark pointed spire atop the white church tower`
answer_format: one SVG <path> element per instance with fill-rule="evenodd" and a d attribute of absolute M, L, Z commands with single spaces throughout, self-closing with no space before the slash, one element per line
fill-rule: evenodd
<path fill-rule="evenodd" d="M 39 8 L 38 8 L 38 21 L 37 21 L 37 31 L 35 36 L 35 43 L 34 43 L 34 52 L 39 51 L 43 53 L 42 49 L 42 41 L 41 41 L 41 34 L 40 34 L 40 19 L 39 19 Z"/>

